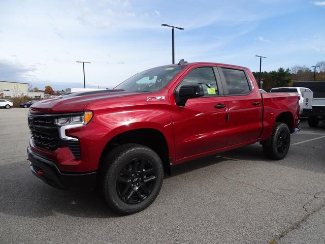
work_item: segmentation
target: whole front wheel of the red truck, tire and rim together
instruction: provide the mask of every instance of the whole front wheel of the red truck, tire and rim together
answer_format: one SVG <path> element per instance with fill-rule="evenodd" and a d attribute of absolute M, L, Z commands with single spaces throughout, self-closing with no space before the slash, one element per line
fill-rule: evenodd
<path fill-rule="evenodd" d="M 114 148 L 99 173 L 105 201 L 122 215 L 148 207 L 157 197 L 164 178 L 163 164 L 155 151 L 131 143 Z"/>

